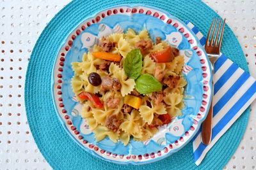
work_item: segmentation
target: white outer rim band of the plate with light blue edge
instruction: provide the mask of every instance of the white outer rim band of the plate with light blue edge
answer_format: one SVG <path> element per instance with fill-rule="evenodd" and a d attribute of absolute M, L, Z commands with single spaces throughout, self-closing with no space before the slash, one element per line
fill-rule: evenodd
<path fill-rule="evenodd" d="M 194 45 L 192 48 L 198 54 L 198 57 L 200 57 L 200 62 L 202 64 L 202 67 L 205 67 L 203 70 L 204 75 L 202 75 L 202 76 L 205 76 L 203 78 L 204 85 L 202 90 L 204 92 L 203 98 L 206 104 L 202 104 L 202 106 L 200 107 L 200 110 L 198 111 L 198 114 L 194 119 L 195 120 L 194 124 L 191 126 L 189 131 L 187 131 L 188 136 L 187 135 L 182 136 L 179 140 L 175 141 L 175 143 L 166 146 L 163 150 L 154 153 L 154 155 L 152 155 L 152 153 L 145 153 L 144 155 L 131 155 L 131 154 L 117 155 L 115 153 L 108 152 L 108 150 L 101 150 L 97 145 L 88 143 L 88 141 L 83 139 L 83 136 L 81 136 L 80 132 L 77 131 L 77 128 L 74 127 L 74 125 L 72 124 L 72 120 L 70 120 L 70 115 L 68 115 L 67 110 L 65 110 L 65 106 L 61 106 L 61 101 L 58 100 L 61 98 L 60 89 L 61 89 L 62 81 L 60 80 L 62 78 L 62 75 L 61 75 L 62 71 L 60 71 L 60 69 L 57 69 L 57 68 L 63 67 L 64 65 L 65 53 L 67 53 L 68 50 L 70 50 L 70 47 L 72 46 L 72 43 L 70 42 L 72 42 L 72 39 L 73 40 L 75 39 L 75 38 L 72 38 L 72 36 L 81 34 L 81 32 L 83 32 L 84 29 L 86 29 L 87 27 L 90 27 L 90 25 L 92 24 L 97 23 L 97 16 L 99 16 L 98 14 L 106 13 L 106 17 L 108 17 L 108 14 L 107 14 L 108 11 L 111 11 L 111 14 L 113 14 L 115 13 L 114 12 L 115 9 L 119 9 L 121 7 L 129 9 L 129 11 L 126 11 L 126 12 L 130 14 L 139 13 L 140 11 L 139 8 L 152 10 L 153 12 L 150 13 L 150 15 L 153 16 L 156 12 L 160 13 L 161 15 L 157 15 L 157 18 L 159 18 L 163 22 L 166 22 L 166 24 L 172 24 L 173 26 L 175 25 L 175 23 L 178 24 L 178 25 L 175 25 L 174 27 L 176 27 L 177 31 L 179 31 L 182 34 L 186 34 L 186 33 L 189 34 L 188 40 L 192 39 L 190 44 L 191 46 Z M 119 13 L 119 11 L 117 12 Z M 143 11 L 143 13 L 145 13 L 145 11 Z M 161 19 L 162 16 L 164 16 L 165 18 Z M 168 23 L 169 18 L 172 18 L 170 23 Z M 181 27 L 179 23 L 180 25 L 182 25 L 181 27 L 183 27 L 183 29 L 180 29 Z M 86 150 L 86 152 L 91 153 L 92 155 L 95 155 L 100 159 L 107 160 L 109 162 L 119 163 L 119 164 L 134 164 L 134 165 L 147 164 L 150 162 L 156 162 L 157 160 L 164 159 L 165 157 L 172 155 L 172 153 L 179 151 L 189 141 L 191 141 L 193 136 L 195 136 L 196 132 L 200 129 L 200 125 L 202 124 L 202 122 L 205 120 L 207 116 L 207 113 L 209 110 L 209 101 L 211 101 L 211 98 L 212 98 L 212 85 L 210 83 L 212 81 L 212 71 L 211 71 L 211 64 L 209 62 L 209 59 L 207 58 L 205 50 L 203 46 L 200 45 L 198 38 L 196 37 L 194 32 L 191 31 L 189 27 L 186 24 L 184 24 L 184 22 L 182 22 L 179 18 L 174 17 L 170 15 L 168 12 L 161 10 L 159 8 L 156 8 L 153 6 L 147 6 L 144 4 L 132 4 L 132 5 L 120 4 L 117 6 L 111 6 L 104 10 L 101 10 L 95 13 L 94 15 L 91 15 L 90 17 L 84 18 L 83 22 L 78 24 L 76 26 L 76 29 L 74 29 L 74 31 L 68 34 L 67 38 L 63 41 L 63 44 L 60 46 L 56 56 L 57 57 L 56 57 L 56 60 L 54 61 L 54 67 L 52 67 L 52 80 L 51 80 L 52 86 L 51 87 L 52 87 L 52 99 L 54 101 L 54 108 L 57 112 L 58 118 L 60 119 L 60 122 L 63 125 L 63 128 L 65 129 L 65 131 L 79 146 L 81 146 L 84 150 Z M 176 146 L 179 146 L 179 147 L 176 147 Z"/>

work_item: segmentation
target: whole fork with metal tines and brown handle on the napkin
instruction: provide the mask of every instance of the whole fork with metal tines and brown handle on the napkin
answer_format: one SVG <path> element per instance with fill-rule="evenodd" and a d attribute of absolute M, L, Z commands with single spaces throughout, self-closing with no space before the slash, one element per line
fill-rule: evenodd
<path fill-rule="evenodd" d="M 220 57 L 220 47 L 221 47 L 223 32 L 224 32 L 224 28 L 225 28 L 226 18 L 224 19 L 224 22 L 222 24 L 220 38 L 219 38 L 219 32 L 220 32 L 220 27 L 221 27 L 221 19 L 220 19 L 220 22 L 218 22 L 218 21 L 219 21 L 219 18 L 216 19 L 216 22 L 215 22 L 215 18 L 213 18 L 211 27 L 207 34 L 206 43 L 205 43 L 205 52 L 207 53 L 208 58 L 211 61 L 212 77 L 214 74 L 214 62 L 216 62 L 216 60 Z M 215 24 L 214 24 L 214 22 L 215 22 Z M 214 29 L 212 31 L 213 24 L 214 24 Z M 218 25 L 218 30 L 217 30 L 217 32 L 215 32 L 217 25 Z M 211 34 L 211 32 L 212 32 L 212 34 Z M 211 36 L 211 40 L 209 42 L 210 36 Z M 214 38 L 214 36 L 215 36 L 215 38 Z M 212 98 L 213 98 L 213 92 L 214 92 L 214 83 L 213 82 L 214 82 L 214 80 L 212 78 Z M 208 115 L 202 124 L 202 132 L 201 133 L 202 133 L 202 143 L 204 143 L 204 145 L 209 145 L 209 143 L 211 143 L 211 137 L 212 137 L 212 101 L 211 101 L 211 106 L 208 111 Z"/>

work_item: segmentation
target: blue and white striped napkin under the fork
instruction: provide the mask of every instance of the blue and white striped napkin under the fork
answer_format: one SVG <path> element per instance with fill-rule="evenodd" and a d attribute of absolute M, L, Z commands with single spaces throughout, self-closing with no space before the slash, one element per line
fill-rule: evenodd
<path fill-rule="evenodd" d="M 204 46 L 206 39 L 203 34 L 191 22 L 187 21 L 186 24 Z M 214 69 L 212 141 L 210 145 L 205 146 L 201 141 L 201 131 L 198 131 L 193 138 L 193 152 L 197 166 L 256 98 L 255 79 L 225 55 L 221 54 L 214 64 Z"/>

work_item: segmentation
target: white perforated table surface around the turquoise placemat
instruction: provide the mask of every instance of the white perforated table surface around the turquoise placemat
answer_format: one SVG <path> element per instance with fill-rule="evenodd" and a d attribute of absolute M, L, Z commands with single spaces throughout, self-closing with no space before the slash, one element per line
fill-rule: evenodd
<path fill-rule="evenodd" d="M 0 169 L 52 169 L 29 130 L 24 82 L 31 50 L 45 25 L 70 0 L 0 0 Z M 256 78 L 256 0 L 204 2 L 231 27 Z M 243 139 L 224 169 L 255 169 L 256 102 Z"/>

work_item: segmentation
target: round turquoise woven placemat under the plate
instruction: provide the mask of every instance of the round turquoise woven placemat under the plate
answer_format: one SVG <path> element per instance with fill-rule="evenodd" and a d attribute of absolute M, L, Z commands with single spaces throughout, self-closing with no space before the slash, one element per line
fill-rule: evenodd
<path fill-rule="evenodd" d="M 51 97 L 51 71 L 58 49 L 63 39 L 84 18 L 109 6 L 124 3 L 147 4 L 161 8 L 183 21 L 189 20 L 204 35 L 207 34 L 212 17 L 218 17 L 213 10 L 198 0 L 75 0 L 65 6 L 45 27 L 36 42 L 26 75 L 26 112 L 40 152 L 54 169 L 221 169 L 241 141 L 248 122 L 249 109 L 214 145 L 198 167 L 193 160 L 191 142 L 179 152 L 158 162 L 143 166 L 126 166 L 90 155 L 63 129 Z M 243 51 L 229 27 L 225 27 L 221 52 L 248 71 Z"/>

